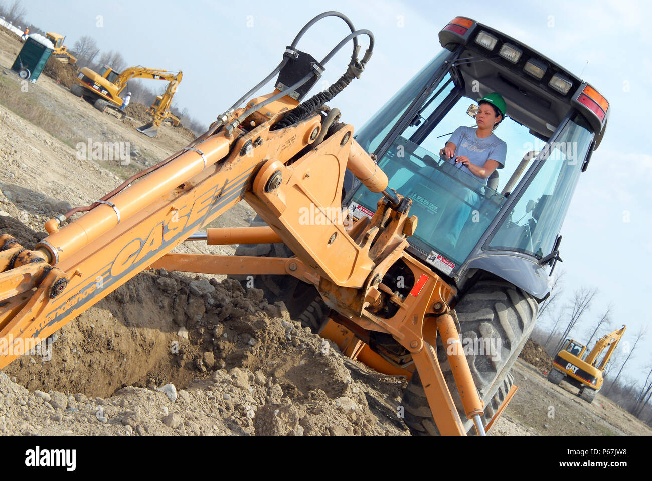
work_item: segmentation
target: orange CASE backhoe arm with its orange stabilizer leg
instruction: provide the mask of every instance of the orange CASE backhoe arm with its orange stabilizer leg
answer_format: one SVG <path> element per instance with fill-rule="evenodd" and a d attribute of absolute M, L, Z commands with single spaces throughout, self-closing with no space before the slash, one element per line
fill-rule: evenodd
<path fill-rule="evenodd" d="M 228 263 L 219 256 L 166 255 L 246 199 L 296 254 L 269 259 L 265 272 L 285 269 L 316 285 L 336 322 L 394 336 L 412 355 L 439 431 L 465 434 L 434 349 L 438 333 L 445 345 L 460 342 L 450 315 L 455 291 L 404 251 L 417 227 L 409 216 L 411 201 L 387 191 L 387 177 L 353 140 L 350 125 L 338 124 L 323 140 L 318 113 L 271 128 L 297 103 L 284 96 L 235 129 L 209 130 L 74 222 L 61 227 L 63 216 L 50 220 L 49 237 L 33 251 L 0 237 L 5 252 L 0 256 L 0 368 L 21 354 L 15 347 L 46 339 L 148 267 L 172 264 L 197 272 L 203 265 L 203 272 L 256 273 L 254 264 L 263 264 L 259 258 Z M 231 119 L 243 112 L 237 109 Z M 316 139 L 321 143 L 304 151 Z M 389 192 L 371 220 L 353 226 L 341 215 L 347 168 L 372 192 Z M 320 218 L 306 223 L 302 209 L 310 208 Z M 405 298 L 381 282 L 398 261 L 414 279 Z M 394 306 L 391 317 L 381 313 L 388 303 Z M 447 349 L 447 356 L 466 416 L 483 433 L 483 406 L 466 357 L 457 349 Z"/>

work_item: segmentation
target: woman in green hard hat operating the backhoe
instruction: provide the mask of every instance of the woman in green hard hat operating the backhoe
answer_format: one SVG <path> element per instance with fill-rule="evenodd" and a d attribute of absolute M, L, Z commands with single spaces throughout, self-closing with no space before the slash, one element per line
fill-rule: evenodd
<path fill-rule="evenodd" d="M 478 100 L 478 111 L 475 115 L 477 128 L 460 126 L 453 132 L 445 147 L 439 151 L 443 160 L 458 166 L 460 170 L 473 175 L 477 181 L 486 185 L 494 170 L 505 167 L 507 144 L 497 138 L 494 130 L 505 119 L 505 100 L 494 92 Z M 457 244 L 460 232 L 466 224 L 474 207 L 478 207 L 479 196 L 468 188 L 461 188 L 457 196 L 464 199 L 458 207 L 458 213 L 450 216 L 449 226 L 441 226 L 446 237 L 441 241 L 444 248 L 453 250 Z"/>

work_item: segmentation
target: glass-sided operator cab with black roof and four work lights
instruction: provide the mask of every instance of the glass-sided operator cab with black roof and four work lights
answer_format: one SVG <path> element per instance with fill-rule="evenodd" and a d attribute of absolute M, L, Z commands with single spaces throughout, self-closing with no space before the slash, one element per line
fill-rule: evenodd
<path fill-rule="evenodd" d="M 419 222 L 408 251 L 452 280 L 480 264 L 504 270 L 505 259 L 495 267 L 487 260 L 494 254 L 509 255 L 512 270 L 526 270 L 526 259 L 552 265 L 576 182 L 604 133 L 608 102 L 541 53 L 474 20 L 455 18 L 439 40 L 444 50 L 356 136 L 378 158 L 389 187 L 412 200 Z M 477 100 L 494 92 L 506 104 L 494 134 L 507 143 L 507 158 L 485 182 L 439 151 L 456 128 L 475 127 Z M 358 187 L 345 202 L 361 218 L 376 211 L 380 197 Z M 455 230 L 457 239 L 447 236 Z M 539 287 L 524 289 L 541 299 L 547 287 L 532 282 Z"/>

